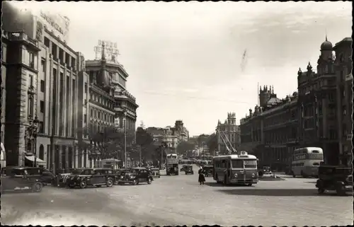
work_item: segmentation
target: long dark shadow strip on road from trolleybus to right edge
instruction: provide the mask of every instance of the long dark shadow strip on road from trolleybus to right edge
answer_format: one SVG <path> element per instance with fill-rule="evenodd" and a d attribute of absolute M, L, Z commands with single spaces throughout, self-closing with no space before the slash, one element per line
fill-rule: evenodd
<path fill-rule="evenodd" d="M 316 189 L 234 189 L 219 190 L 225 194 L 235 195 L 256 195 L 265 197 L 312 197 L 312 196 L 337 196 L 336 192 L 326 192 L 318 194 Z M 350 196 L 350 193 L 347 194 Z M 353 195 L 351 195 L 353 196 Z"/>

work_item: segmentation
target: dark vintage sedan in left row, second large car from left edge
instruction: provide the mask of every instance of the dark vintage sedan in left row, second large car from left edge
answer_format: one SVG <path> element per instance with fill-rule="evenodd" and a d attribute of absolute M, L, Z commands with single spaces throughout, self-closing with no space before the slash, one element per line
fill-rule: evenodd
<path fill-rule="evenodd" d="M 70 188 L 87 186 L 101 187 L 103 185 L 112 187 L 115 179 L 111 175 L 106 175 L 103 168 L 86 168 L 79 174 L 72 174 L 67 177 L 66 184 Z"/>

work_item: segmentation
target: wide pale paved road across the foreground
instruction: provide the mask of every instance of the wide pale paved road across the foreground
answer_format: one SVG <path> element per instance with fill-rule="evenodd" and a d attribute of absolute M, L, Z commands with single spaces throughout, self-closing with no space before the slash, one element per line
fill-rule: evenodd
<path fill-rule="evenodd" d="M 197 169 L 195 169 L 197 170 Z M 195 171 L 196 172 L 196 171 Z M 4 194 L 7 225 L 332 226 L 353 223 L 353 197 L 317 195 L 315 179 L 261 181 L 222 187 L 198 175 L 161 176 L 152 185 Z"/>

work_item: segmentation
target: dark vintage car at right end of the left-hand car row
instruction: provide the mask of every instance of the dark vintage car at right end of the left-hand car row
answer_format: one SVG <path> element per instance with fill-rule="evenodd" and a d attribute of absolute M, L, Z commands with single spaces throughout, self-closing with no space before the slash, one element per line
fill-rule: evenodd
<path fill-rule="evenodd" d="M 152 175 L 147 168 L 137 167 L 122 171 L 118 184 L 124 185 L 127 183 L 130 185 L 139 185 L 139 183 L 147 182 L 147 184 L 150 185 L 152 180 Z"/>

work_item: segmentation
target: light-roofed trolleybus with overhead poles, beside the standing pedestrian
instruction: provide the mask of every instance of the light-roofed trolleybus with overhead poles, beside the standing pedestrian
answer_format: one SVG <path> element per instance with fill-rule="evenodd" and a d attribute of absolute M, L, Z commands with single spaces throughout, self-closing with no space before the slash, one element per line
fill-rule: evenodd
<path fill-rule="evenodd" d="M 217 183 L 252 186 L 258 182 L 258 159 L 241 151 L 239 155 L 215 156 L 212 158 L 213 178 Z"/>

